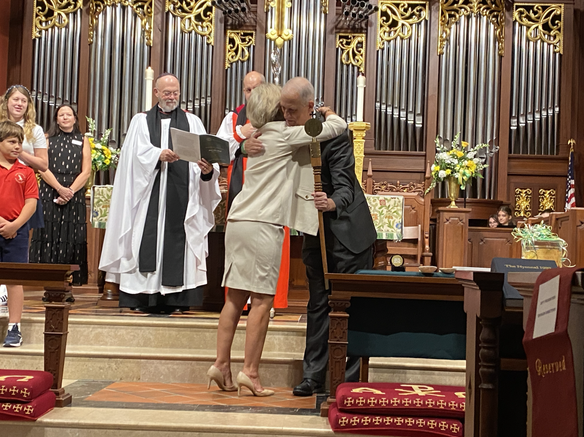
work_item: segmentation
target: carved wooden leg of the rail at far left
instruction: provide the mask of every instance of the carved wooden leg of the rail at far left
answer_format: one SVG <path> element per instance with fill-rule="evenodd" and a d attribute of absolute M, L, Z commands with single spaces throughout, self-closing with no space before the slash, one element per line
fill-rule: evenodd
<path fill-rule="evenodd" d="M 71 287 L 44 287 L 44 297 L 47 303 L 44 315 L 44 370 L 53 374 L 51 391 L 57 396 L 55 405 L 66 407 L 71 404 L 71 395 L 61 387 L 65 366 L 65 349 L 69 327 L 69 308 L 65 303 L 65 293 L 71 292 Z"/>

